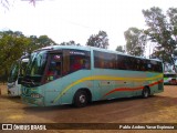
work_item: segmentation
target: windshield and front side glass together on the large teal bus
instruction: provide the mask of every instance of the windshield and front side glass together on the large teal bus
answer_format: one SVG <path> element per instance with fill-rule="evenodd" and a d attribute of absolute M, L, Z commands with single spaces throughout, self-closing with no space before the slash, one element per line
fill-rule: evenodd
<path fill-rule="evenodd" d="M 82 69 L 90 70 L 90 63 L 88 51 L 63 49 L 33 52 L 22 84 L 39 86 Z"/>

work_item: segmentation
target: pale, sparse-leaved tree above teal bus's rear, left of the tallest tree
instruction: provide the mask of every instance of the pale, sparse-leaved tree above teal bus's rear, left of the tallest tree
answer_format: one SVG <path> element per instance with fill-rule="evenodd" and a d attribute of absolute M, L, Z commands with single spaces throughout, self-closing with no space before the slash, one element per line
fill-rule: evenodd
<path fill-rule="evenodd" d="M 146 35 L 143 30 L 137 28 L 129 28 L 124 32 L 126 40 L 126 52 L 131 55 L 144 55 Z"/>

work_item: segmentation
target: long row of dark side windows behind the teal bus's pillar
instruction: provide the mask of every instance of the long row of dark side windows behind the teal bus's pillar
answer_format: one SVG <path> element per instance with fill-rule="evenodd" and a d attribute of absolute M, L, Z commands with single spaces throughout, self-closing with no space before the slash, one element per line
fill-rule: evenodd
<path fill-rule="evenodd" d="M 162 62 L 100 51 L 94 51 L 94 66 L 100 69 L 163 72 Z"/>

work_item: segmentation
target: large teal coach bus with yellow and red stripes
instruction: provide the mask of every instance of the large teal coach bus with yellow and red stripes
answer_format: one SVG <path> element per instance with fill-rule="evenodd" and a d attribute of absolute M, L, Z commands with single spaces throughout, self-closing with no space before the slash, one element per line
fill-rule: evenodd
<path fill-rule="evenodd" d="M 148 98 L 164 91 L 163 63 L 93 47 L 54 45 L 34 51 L 22 79 L 24 103 L 32 106 Z"/>

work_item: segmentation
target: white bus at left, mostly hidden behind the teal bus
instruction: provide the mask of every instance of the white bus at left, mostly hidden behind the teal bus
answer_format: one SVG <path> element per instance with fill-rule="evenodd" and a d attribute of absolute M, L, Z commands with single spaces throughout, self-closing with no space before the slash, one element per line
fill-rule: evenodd
<path fill-rule="evenodd" d="M 21 95 L 21 84 L 19 83 L 19 78 L 24 73 L 28 62 L 28 58 L 22 58 L 12 63 L 10 74 L 8 76 L 8 95 Z"/>

